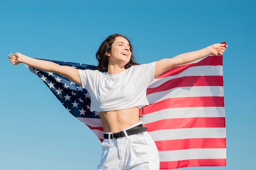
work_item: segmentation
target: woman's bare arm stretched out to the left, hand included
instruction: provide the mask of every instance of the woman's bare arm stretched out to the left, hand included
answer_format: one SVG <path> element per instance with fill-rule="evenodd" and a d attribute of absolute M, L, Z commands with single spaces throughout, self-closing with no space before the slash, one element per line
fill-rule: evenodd
<path fill-rule="evenodd" d="M 60 74 L 63 77 L 68 78 L 74 83 L 81 85 L 81 79 L 78 73 L 78 70 L 69 66 L 58 65 L 51 61 L 34 59 L 31 57 L 27 57 L 19 52 L 9 55 L 9 59 L 13 65 L 17 65 L 19 63 L 25 63 L 31 67 L 37 68 L 39 70 L 43 70 L 46 72 L 54 72 Z"/>

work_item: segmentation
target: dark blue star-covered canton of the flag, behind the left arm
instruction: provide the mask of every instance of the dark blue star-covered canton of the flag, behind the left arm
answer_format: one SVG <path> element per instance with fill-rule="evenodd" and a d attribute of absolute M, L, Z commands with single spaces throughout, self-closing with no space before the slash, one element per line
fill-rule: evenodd
<path fill-rule="evenodd" d="M 51 61 L 51 60 L 47 60 Z M 93 70 L 95 66 L 61 61 L 52 61 L 58 65 L 67 65 L 76 69 Z M 90 111 L 90 95 L 86 89 L 68 80 L 67 78 L 52 72 L 45 72 L 27 65 L 29 70 L 39 76 L 58 98 L 61 104 L 76 118 L 100 118 L 98 112 Z"/>

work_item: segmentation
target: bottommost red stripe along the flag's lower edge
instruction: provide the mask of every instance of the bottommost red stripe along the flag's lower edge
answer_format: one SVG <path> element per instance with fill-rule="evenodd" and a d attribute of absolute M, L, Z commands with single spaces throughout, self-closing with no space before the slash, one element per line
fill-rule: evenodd
<path fill-rule="evenodd" d="M 191 166 L 227 166 L 227 159 L 189 159 L 160 162 L 160 169 L 175 169 Z"/>

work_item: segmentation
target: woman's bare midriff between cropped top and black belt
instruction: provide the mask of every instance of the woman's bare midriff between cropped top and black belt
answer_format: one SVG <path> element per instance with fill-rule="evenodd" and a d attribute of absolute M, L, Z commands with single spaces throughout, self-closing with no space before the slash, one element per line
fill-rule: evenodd
<path fill-rule="evenodd" d="M 132 107 L 99 113 L 104 132 L 118 132 L 139 122 L 139 109 Z"/>

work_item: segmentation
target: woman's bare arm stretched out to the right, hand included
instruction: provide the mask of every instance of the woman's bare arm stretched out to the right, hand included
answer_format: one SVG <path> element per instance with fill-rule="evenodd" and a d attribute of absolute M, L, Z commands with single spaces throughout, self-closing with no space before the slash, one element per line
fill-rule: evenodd
<path fill-rule="evenodd" d="M 156 78 L 160 74 L 166 72 L 167 70 L 186 63 L 190 63 L 192 61 L 201 59 L 209 54 L 213 54 L 216 56 L 220 56 L 225 52 L 227 48 L 226 44 L 213 44 L 201 50 L 193 51 L 193 52 L 186 52 L 184 54 L 177 55 L 171 59 L 162 59 L 156 62 L 155 65 L 155 74 L 154 77 Z"/>

